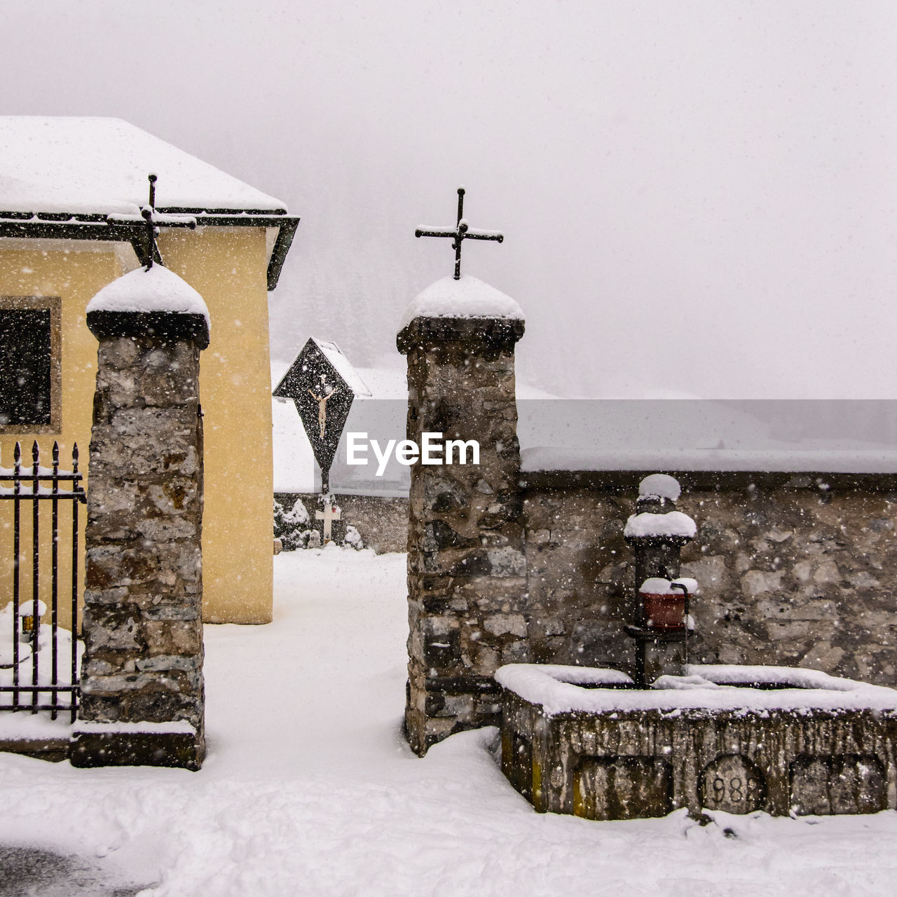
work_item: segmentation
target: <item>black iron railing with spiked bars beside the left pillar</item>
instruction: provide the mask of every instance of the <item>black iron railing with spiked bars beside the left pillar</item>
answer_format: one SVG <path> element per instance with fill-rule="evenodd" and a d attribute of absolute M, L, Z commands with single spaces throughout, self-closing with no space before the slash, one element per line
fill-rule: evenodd
<path fill-rule="evenodd" d="M 60 469 L 57 442 L 52 454 L 52 466 L 40 466 L 35 442 L 31 464 L 22 465 L 17 442 L 13 466 L 0 466 L 0 710 L 49 710 L 53 719 L 64 711 L 74 722 L 80 694 L 78 508 L 87 498 L 77 445 L 71 470 Z"/>

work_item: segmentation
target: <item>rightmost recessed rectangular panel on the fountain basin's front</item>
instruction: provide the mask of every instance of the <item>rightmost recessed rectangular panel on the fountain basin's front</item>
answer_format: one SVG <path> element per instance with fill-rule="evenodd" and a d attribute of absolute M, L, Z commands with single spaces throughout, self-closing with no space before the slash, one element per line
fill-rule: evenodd
<path fill-rule="evenodd" d="M 887 778 L 874 756 L 799 757 L 791 764 L 791 806 L 800 815 L 878 813 Z"/>

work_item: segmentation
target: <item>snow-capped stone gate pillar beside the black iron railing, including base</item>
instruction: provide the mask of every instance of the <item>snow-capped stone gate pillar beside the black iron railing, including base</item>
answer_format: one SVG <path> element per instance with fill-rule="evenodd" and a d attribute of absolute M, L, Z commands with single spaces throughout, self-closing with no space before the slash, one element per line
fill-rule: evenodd
<path fill-rule="evenodd" d="M 198 377 L 208 312 L 196 291 L 156 265 L 101 290 L 87 326 L 100 347 L 72 762 L 198 769 L 205 754 Z"/>

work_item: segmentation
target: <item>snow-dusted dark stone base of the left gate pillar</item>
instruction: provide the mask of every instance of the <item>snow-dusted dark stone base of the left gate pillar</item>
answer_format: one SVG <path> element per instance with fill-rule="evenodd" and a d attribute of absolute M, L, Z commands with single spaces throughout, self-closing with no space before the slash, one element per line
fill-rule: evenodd
<path fill-rule="evenodd" d="M 73 766 L 169 766 L 198 770 L 205 739 L 188 723 L 81 723 L 69 743 Z"/>

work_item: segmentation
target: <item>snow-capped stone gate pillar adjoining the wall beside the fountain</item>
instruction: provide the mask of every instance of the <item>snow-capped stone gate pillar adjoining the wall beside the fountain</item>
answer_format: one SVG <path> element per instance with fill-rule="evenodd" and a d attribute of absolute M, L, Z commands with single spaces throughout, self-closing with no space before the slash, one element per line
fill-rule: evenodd
<path fill-rule="evenodd" d="M 397 339 L 408 359 L 408 439 L 420 445 L 431 432 L 479 443 L 478 465 L 458 464 L 455 453 L 451 465 L 411 467 L 405 727 L 418 754 L 453 732 L 498 725 L 492 674 L 530 659 L 514 379 L 523 316 L 468 277 L 431 287 L 448 291 L 452 309 L 453 283 L 466 296 L 483 292 L 477 308 L 504 302 L 494 317 L 440 317 L 421 302 L 425 292 L 422 313 L 412 307 Z"/>

